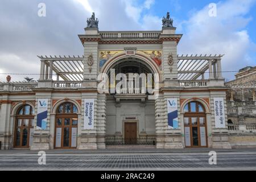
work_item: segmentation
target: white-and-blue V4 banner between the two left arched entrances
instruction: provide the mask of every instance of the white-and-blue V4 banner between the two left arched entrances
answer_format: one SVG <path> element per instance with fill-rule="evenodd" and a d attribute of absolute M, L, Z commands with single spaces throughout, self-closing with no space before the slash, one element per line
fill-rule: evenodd
<path fill-rule="evenodd" d="M 38 114 L 36 117 L 36 129 L 38 130 L 47 129 L 47 108 L 48 108 L 48 99 L 39 99 Z"/>

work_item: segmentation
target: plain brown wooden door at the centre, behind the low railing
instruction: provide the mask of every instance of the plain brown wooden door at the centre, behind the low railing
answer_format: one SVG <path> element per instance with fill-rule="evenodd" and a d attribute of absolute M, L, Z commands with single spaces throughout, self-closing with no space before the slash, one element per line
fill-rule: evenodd
<path fill-rule="evenodd" d="M 137 143 L 137 123 L 125 123 L 125 143 Z"/>

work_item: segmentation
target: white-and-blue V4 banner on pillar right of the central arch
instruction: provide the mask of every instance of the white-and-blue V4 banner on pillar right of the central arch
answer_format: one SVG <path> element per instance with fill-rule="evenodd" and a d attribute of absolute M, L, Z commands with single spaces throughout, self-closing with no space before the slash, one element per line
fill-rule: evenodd
<path fill-rule="evenodd" d="M 167 100 L 168 110 L 168 127 L 169 129 L 178 129 L 178 112 L 177 112 L 177 98 L 168 98 Z"/>

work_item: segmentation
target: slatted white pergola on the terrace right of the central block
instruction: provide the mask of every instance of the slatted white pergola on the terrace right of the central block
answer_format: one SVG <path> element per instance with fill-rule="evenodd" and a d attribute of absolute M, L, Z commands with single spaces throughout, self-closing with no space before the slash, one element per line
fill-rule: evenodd
<path fill-rule="evenodd" d="M 178 80 L 197 80 L 209 71 L 209 79 L 222 78 L 221 58 L 224 55 L 177 55 Z"/>

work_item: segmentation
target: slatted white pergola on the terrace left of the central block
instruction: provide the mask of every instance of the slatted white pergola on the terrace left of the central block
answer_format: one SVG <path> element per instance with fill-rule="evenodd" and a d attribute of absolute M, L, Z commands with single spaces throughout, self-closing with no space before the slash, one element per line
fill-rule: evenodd
<path fill-rule="evenodd" d="M 41 59 L 40 80 L 52 80 L 53 71 L 56 73 L 57 81 L 84 80 L 84 56 L 38 56 Z"/>

